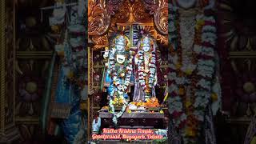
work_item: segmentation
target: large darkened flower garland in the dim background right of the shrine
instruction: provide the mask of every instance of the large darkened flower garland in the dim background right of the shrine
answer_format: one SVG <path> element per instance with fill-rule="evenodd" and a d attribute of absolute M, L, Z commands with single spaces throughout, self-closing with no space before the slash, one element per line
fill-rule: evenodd
<path fill-rule="evenodd" d="M 194 30 L 194 46 L 191 63 L 182 69 L 182 38 L 178 9 L 174 6 L 170 15 L 170 95 L 169 110 L 174 126 L 182 129 L 185 143 L 196 143 L 204 121 L 206 106 L 212 97 L 214 75 L 214 47 L 216 45 L 215 20 L 205 14 L 197 14 Z M 186 63 L 187 64 L 187 63 Z M 195 65 L 195 67 L 194 67 Z"/>

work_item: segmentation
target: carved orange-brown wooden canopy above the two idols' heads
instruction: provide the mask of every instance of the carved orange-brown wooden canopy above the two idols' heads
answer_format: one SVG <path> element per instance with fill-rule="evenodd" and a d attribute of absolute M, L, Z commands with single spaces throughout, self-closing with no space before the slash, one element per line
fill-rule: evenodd
<path fill-rule="evenodd" d="M 168 43 L 167 0 L 89 0 L 88 34 L 94 48 L 108 46 L 108 38 L 114 31 L 125 33 L 126 26 L 154 26 L 154 38 L 166 46 Z M 150 29 L 151 30 L 151 29 Z M 152 31 L 146 31 L 152 34 Z"/>

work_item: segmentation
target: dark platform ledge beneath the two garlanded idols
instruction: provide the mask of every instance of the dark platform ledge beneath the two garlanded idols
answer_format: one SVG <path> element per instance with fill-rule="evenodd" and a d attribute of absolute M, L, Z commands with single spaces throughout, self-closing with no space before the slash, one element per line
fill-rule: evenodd
<path fill-rule="evenodd" d="M 102 128 L 114 127 L 113 114 L 99 112 L 99 117 L 102 119 Z M 118 128 L 165 129 L 164 114 L 158 112 L 125 112 L 121 118 L 118 118 Z"/>

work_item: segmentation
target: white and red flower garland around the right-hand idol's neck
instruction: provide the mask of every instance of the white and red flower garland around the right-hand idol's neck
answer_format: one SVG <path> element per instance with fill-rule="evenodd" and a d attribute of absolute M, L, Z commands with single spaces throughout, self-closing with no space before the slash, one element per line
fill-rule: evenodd
<path fill-rule="evenodd" d="M 156 58 L 154 51 L 150 54 L 149 72 L 145 71 L 145 59 L 144 51 L 138 50 L 138 82 L 142 86 L 143 90 L 150 91 L 154 86 L 154 76 L 156 71 Z M 149 78 L 149 82 L 146 82 L 146 78 Z"/>

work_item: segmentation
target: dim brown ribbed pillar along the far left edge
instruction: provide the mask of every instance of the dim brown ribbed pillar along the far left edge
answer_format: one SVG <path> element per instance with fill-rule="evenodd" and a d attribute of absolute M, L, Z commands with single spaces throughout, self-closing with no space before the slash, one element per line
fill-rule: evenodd
<path fill-rule="evenodd" d="M 14 7 L 0 2 L 0 143 L 12 143 L 20 136 L 14 123 Z M 7 6 L 7 4 L 9 4 Z"/>

